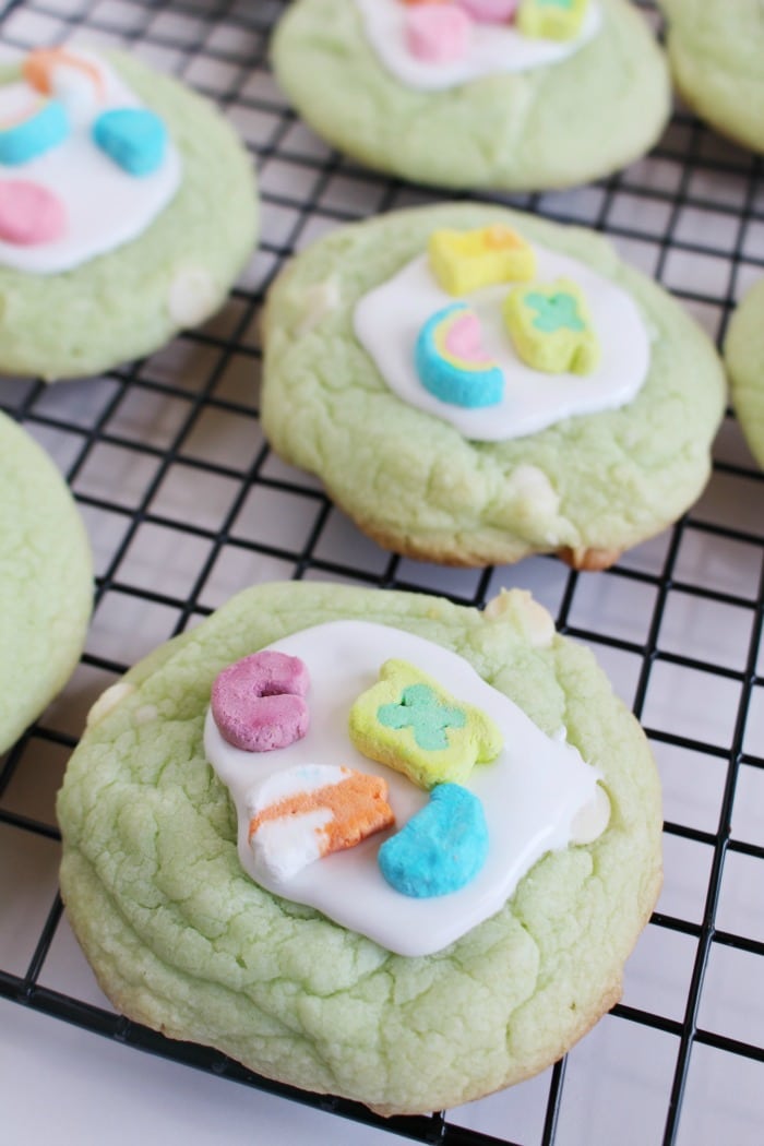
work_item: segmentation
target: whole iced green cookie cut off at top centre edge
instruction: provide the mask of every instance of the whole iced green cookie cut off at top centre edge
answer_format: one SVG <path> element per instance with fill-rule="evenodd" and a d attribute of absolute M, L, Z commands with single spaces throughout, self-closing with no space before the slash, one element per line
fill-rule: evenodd
<path fill-rule="evenodd" d="M 633 5 L 576 0 L 584 18 L 562 39 L 537 24 L 536 7 L 523 0 L 486 22 L 485 0 L 298 0 L 276 28 L 273 64 L 318 135 L 370 167 L 471 190 L 568 187 L 654 144 L 668 69 Z M 468 36 L 452 28 L 465 15 Z M 428 25 L 430 53 L 410 49 L 412 18 Z M 440 37 L 438 22 L 449 25 Z"/>

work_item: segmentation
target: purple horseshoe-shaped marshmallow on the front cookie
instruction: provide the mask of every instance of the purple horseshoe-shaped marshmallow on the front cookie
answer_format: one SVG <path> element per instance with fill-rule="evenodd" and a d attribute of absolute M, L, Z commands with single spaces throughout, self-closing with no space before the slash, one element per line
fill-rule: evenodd
<path fill-rule="evenodd" d="M 225 740 L 245 752 L 273 752 L 308 731 L 310 678 L 299 657 L 265 650 L 229 665 L 212 685 L 211 707 Z"/>

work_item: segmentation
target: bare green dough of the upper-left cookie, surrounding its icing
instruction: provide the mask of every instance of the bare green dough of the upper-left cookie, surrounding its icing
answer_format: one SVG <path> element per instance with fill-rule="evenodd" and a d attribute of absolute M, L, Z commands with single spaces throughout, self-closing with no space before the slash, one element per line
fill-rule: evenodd
<path fill-rule="evenodd" d="M 182 160 L 170 204 L 137 238 L 61 274 L 0 265 L 0 370 L 48 382 L 149 354 L 218 311 L 255 241 L 252 163 L 206 100 L 135 57 L 108 53 L 164 119 Z M 8 83 L 17 69 L 6 68 Z M 21 170 L 21 168 L 19 168 Z"/>

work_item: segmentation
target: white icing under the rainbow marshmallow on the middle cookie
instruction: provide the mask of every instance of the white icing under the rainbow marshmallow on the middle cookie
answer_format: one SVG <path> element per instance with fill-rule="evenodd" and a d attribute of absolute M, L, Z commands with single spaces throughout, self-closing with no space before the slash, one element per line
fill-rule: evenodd
<path fill-rule="evenodd" d="M 503 441 L 536 433 L 562 418 L 615 409 L 639 392 L 649 368 L 649 338 L 637 305 L 609 278 L 586 264 L 535 246 L 536 278 L 567 277 L 582 288 L 601 345 L 599 364 L 588 375 L 542 374 L 518 358 L 502 316 L 512 283 L 467 296 L 476 312 L 486 353 L 504 370 L 504 397 L 496 406 L 466 409 L 442 402 L 419 382 L 415 346 L 427 319 L 454 301 L 438 284 L 426 256 L 364 295 L 353 316 L 355 335 L 399 398 L 450 422 L 473 441 Z"/>

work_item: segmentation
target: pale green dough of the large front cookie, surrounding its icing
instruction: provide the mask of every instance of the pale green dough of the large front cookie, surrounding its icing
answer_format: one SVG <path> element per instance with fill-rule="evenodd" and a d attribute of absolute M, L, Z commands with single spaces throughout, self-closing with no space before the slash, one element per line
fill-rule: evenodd
<path fill-rule="evenodd" d="M 392 955 L 247 878 L 205 760 L 216 673 L 344 618 L 455 650 L 545 732 L 565 724 L 611 800 L 593 843 L 545 855 L 504 908 L 436 955 Z M 517 590 L 485 613 L 307 582 L 245 590 L 104 694 L 58 818 L 69 919 L 120 1011 L 385 1114 L 454 1106 L 557 1060 L 620 997 L 661 878 L 644 733 L 591 653 Z"/>

